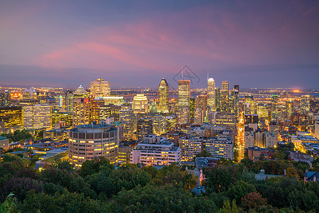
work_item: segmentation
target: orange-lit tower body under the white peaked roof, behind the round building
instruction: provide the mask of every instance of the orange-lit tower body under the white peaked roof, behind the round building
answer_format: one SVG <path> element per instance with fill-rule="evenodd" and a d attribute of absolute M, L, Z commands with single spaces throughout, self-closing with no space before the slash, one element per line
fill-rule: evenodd
<path fill-rule="evenodd" d="M 91 100 L 88 98 L 73 99 L 73 128 L 91 123 Z"/>

